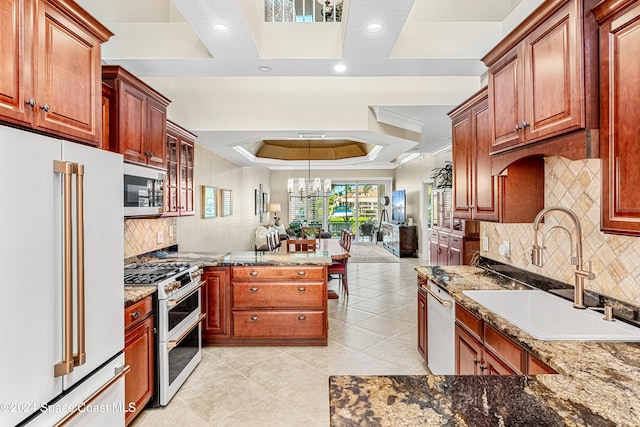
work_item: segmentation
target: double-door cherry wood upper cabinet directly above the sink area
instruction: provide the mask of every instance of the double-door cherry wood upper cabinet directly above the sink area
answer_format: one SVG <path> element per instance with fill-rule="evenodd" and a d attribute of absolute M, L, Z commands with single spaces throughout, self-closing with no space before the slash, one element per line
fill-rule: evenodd
<path fill-rule="evenodd" d="M 590 12 L 595 3 L 545 1 L 483 58 L 489 67 L 492 154 L 597 129 L 597 33 Z M 569 157 L 597 155 L 587 146 L 590 133 L 581 135 L 572 136 L 581 152 Z M 548 153 L 562 155 L 554 148 L 562 151 L 564 144 Z"/>

